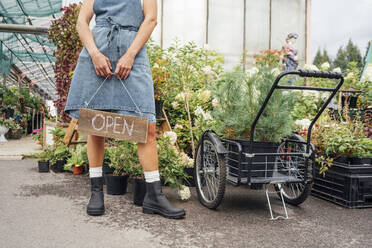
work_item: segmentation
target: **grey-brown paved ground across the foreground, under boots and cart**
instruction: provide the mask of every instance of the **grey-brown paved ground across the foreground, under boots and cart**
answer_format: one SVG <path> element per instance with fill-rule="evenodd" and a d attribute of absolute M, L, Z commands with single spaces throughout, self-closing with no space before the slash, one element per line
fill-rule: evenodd
<path fill-rule="evenodd" d="M 350 210 L 309 197 L 271 221 L 262 191 L 228 187 L 217 211 L 169 199 L 183 220 L 144 215 L 124 196 L 105 195 L 106 214 L 85 213 L 89 178 L 41 174 L 35 160 L 0 161 L 0 247 L 370 247 L 372 209 Z M 273 205 L 279 201 L 273 196 Z"/>

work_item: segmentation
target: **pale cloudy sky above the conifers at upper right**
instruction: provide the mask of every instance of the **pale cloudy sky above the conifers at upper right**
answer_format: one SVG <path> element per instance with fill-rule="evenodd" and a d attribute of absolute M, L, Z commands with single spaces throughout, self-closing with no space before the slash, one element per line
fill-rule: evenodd
<path fill-rule="evenodd" d="M 362 56 L 372 40 L 372 0 L 312 0 L 311 55 L 326 48 L 334 58 L 351 38 Z"/>

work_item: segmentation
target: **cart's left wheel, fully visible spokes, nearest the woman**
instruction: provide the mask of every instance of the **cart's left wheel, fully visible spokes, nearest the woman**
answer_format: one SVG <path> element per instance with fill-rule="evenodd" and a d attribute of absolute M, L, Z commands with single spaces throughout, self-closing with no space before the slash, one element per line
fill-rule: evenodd
<path fill-rule="evenodd" d="M 201 142 L 203 142 L 203 151 Z M 207 208 L 216 209 L 225 194 L 226 163 L 224 156 L 217 153 L 216 147 L 207 135 L 199 141 L 197 147 L 195 178 L 200 203 Z"/>

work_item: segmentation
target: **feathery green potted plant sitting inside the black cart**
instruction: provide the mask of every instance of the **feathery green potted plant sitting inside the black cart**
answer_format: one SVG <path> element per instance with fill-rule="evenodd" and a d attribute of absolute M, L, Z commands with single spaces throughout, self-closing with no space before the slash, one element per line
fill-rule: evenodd
<path fill-rule="evenodd" d="M 271 66 L 252 68 L 247 72 L 238 69 L 222 75 L 213 89 L 214 98 L 218 100 L 218 107 L 212 112 L 216 120 L 216 131 L 222 137 L 239 143 L 243 152 L 248 152 L 251 125 L 278 73 L 279 70 Z M 253 153 L 275 153 L 278 142 L 291 134 L 294 125 L 291 117 L 292 103 L 291 93 L 274 91 L 257 123 Z M 237 146 L 229 146 L 229 149 L 238 152 Z M 273 167 L 275 156 L 267 158 L 267 166 Z M 245 157 L 244 160 L 246 161 L 242 161 L 243 163 L 248 162 Z M 265 176 L 266 170 L 262 169 L 264 162 L 264 156 L 253 158 L 253 177 Z M 272 171 L 273 168 L 268 168 L 269 173 Z"/>

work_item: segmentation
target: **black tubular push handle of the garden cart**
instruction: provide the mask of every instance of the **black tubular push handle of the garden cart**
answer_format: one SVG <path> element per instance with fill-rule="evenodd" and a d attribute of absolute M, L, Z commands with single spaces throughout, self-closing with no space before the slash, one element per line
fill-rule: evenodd
<path fill-rule="evenodd" d="M 329 79 L 340 79 L 339 83 L 335 88 L 322 88 L 322 87 L 310 87 L 310 86 L 291 86 L 291 85 L 278 85 L 280 79 L 287 75 L 299 75 L 300 77 L 317 77 L 317 78 L 329 78 Z M 327 108 L 328 104 L 331 102 L 332 98 L 336 95 L 337 91 L 341 88 L 342 84 L 344 83 L 344 77 L 341 73 L 338 72 L 328 72 L 328 71 L 307 71 L 307 70 L 298 70 L 298 71 L 288 71 L 282 72 L 279 76 L 275 79 L 273 86 L 271 87 L 269 93 L 266 96 L 264 103 L 262 104 L 258 114 L 251 125 L 251 134 L 250 134 L 250 146 L 249 146 L 249 153 L 253 151 L 253 140 L 254 140 L 254 131 L 257 125 L 258 120 L 260 119 L 263 111 L 267 103 L 269 102 L 273 92 L 275 89 L 291 89 L 291 90 L 316 90 L 316 91 L 329 91 L 332 92 L 328 97 L 327 101 L 323 104 L 322 108 L 316 114 L 314 119 L 311 121 L 310 126 L 307 130 L 307 140 L 306 140 L 306 154 L 310 152 L 310 137 L 311 137 L 311 130 L 315 124 L 315 122 L 319 119 L 320 115 L 324 112 Z"/>

